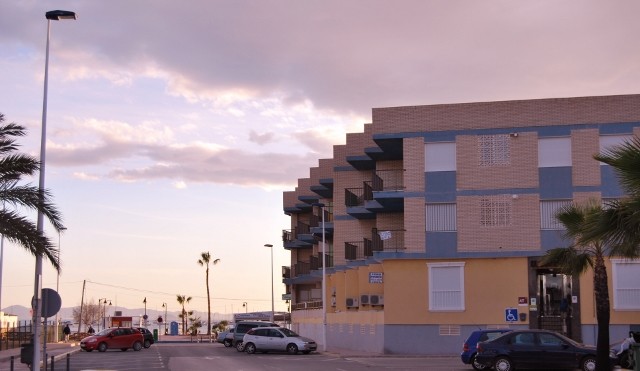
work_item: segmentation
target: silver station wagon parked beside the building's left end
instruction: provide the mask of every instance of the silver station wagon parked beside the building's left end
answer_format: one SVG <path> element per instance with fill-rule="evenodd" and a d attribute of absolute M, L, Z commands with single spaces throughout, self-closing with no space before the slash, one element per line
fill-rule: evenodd
<path fill-rule="evenodd" d="M 247 353 L 266 353 L 268 351 L 287 352 L 289 354 L 309 354 L 318 349 L 315 341 L 302 337 L 284 327 L 258 327 L 249 330 L 242 342 Z"/>

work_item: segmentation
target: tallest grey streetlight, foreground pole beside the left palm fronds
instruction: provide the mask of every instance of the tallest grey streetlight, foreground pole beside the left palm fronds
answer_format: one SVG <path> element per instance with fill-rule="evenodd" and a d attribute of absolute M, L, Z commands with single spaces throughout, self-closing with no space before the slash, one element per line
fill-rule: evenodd
<path fill-rule="evenodd" d="M 45 52 L 44 62 L 44 95 L 42 99 L 42 135 L 40 137 L 40 181 L 38 189 L 40 193 L 45 191 L 44 174 L 45 174 L 45 152 L 47 148 L 47 90 L 49 86 L 49 40 L 51 39 L 51 21 L 59 21 L 61 19 L 77 19 L 76 13 L 67 10 L 51 10 L 45 13 L 47 18 L 47 49 Z M 44 234 L 44 215 L 42 211 L 38 211 L 37 230 L 39 234 Z M 35 279 L 33 284 L 33 298 L 35 305 L 33 308 L 33 358 L 32 365 L 40 364 L 40 315 L 42 314 L 42 255 L 36 255 Z M 36 366 L 34 366 L 36 367 Z M 39 367 L 39 366 L 37 366 Z"/>

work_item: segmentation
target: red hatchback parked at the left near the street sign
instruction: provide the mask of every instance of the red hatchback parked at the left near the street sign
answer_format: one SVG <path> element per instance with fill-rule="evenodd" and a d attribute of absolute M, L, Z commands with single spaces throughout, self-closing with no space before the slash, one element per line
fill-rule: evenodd
<path fill-rule="evenodd" d="M 134 328 L 115 327 L 104 329 L 95 335 L 80 340 L 80 349 L 91 352 L 97 349 L 105 352 L 107 349 L 120 349 L 123 352 L 129 348 L 135 351 L 142 349 L 144 337 Z"/>

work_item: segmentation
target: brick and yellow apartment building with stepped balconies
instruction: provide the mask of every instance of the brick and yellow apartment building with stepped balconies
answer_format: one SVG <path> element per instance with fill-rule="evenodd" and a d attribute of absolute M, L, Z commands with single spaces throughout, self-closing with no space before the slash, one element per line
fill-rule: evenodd
<path fill-rule="evenodd" d="M 640 95 L 374 108 L 283 194 L 294 328 L 388 354 L 456 354 L 497 327 L 595 344 L 591 272 L 538 262 L 568 245 L 560 207 L 623 195 L 593 155 L 639 134 Z M 607 268 L 613 342 L 640 330 L 640 261 Z"/>

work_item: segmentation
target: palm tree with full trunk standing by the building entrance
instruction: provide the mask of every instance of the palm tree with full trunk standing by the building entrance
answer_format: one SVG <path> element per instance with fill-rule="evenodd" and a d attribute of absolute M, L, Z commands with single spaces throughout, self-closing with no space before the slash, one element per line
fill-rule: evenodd
<path fill-rule="evenodd" d="M 556 218 L 565 227 L 565 235 L 573 242 L 569 247 L 549 250 L 541 259 L 543 266 L 559 268 L 562 273 L 580 276 L 593 269 L 593 287 L 596 301 L 598 339 L 596 342 L 596 365 L 598 370 L 609 369 L 609 322 L 610 303 L 605 256 L 613 256 L 615 249 L 602 239 L 585 236 L 591 233 L 590 226 L 602 215 L 604 209 L 597 201 L 583 205 L 569 204 L 556 213 Z"/>

